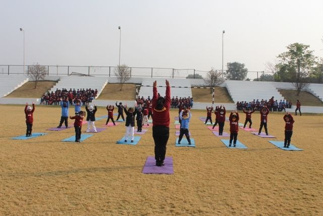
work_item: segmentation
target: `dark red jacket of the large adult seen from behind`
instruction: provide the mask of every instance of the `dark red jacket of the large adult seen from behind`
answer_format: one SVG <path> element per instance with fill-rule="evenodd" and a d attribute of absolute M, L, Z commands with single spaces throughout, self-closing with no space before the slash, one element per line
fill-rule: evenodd
<path fill-rule="evenodd" d="M 154 126 L 170 126 L 170 105 L 171 105 L 171 87 L 166 87 L 166 98 L 164 101 L 164 107 L 162 110 L 157 110 L 157 88 L 153 87 L 153 97 L 152 97 L 152 109 L 153 109 L 153 119 L 152 124 Z"/>

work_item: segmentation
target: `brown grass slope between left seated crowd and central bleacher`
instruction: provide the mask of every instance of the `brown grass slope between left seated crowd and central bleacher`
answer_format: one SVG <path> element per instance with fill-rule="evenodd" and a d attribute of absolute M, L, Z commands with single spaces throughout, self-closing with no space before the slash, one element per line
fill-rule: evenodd
<path fill-rule="evenodd" d="M 125 83 L 120 91 L 119 83 L 108 83 L 96 100 L 136 100 L 136 84 Z"/>

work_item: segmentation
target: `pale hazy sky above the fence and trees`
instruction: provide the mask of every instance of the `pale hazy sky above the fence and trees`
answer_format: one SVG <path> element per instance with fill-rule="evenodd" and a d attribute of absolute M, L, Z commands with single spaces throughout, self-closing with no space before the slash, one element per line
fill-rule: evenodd
<path fill-rule="evenodd" d="M 299 42 L 323 57 L 319 0 L 0 0 L 0 64 L 249 71 Z M 222 31 L 225 30 L 223 34 Z M 254 77 L 255 74 L 248 74 Z"/>

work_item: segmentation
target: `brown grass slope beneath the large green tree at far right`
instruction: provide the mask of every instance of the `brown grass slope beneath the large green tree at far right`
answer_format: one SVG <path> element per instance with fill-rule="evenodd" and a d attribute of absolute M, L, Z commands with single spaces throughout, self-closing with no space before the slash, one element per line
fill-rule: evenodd
<path fill-rule="evenodd" d="M 321 100 L 305 91 L 302 91 L 299 96 L 296 96 L 296 90 L 279 90 L 279 92 L 286 100 L 293 101 L 293 105 L 296 105 L 296 101 L 298 99 L 302 106 L 323 106 L 323 102 Z"/>

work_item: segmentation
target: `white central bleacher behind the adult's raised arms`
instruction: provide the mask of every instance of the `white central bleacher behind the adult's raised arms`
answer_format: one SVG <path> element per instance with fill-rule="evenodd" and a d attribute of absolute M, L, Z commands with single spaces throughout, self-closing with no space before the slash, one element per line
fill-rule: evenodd
<path fill-rule="evenodd" d="M 161 86 L 166 86 L 165 83 L 165 78 L 164 79 L 143 79 L 142 80 L 142 85 L 150 85 L 150 87 L 141 87 L 139 91 L 139 96 L 143 96 L 144 98 L 147 98 L 150 96 L 152 98 L 152 84 L 153 81 L 157 81 L 157 90 L 158 93 L 161 96 L 165 96 L 166 88 L 165 87 L 158 87 L 159 85 Z M 192 97 L 192 90 L 191 90 L 191 82 L 188 79 L 169 79 L 171 87 L 189 87 L 189 88 L 171 88 L 171 98 L 178 96 L 180 97 Z"/>

